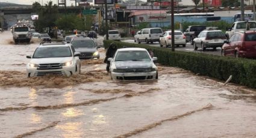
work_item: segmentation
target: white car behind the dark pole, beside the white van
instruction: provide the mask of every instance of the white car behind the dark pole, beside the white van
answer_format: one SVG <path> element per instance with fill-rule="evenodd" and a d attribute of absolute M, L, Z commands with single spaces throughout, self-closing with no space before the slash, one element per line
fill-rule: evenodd
<path fill-rule="evenodd" d="M 175 46 L 182 45 L 183 47 L 186 47 L 186 37 L 181 31 L 174 31 L 174 37 L 175 37 Z M 163 46 L 171 46 L 172 45 L 172 31 L 166 31 L 163 33 L 163 35 L 160 36 L 159 39 L 160 47 Z"/>

